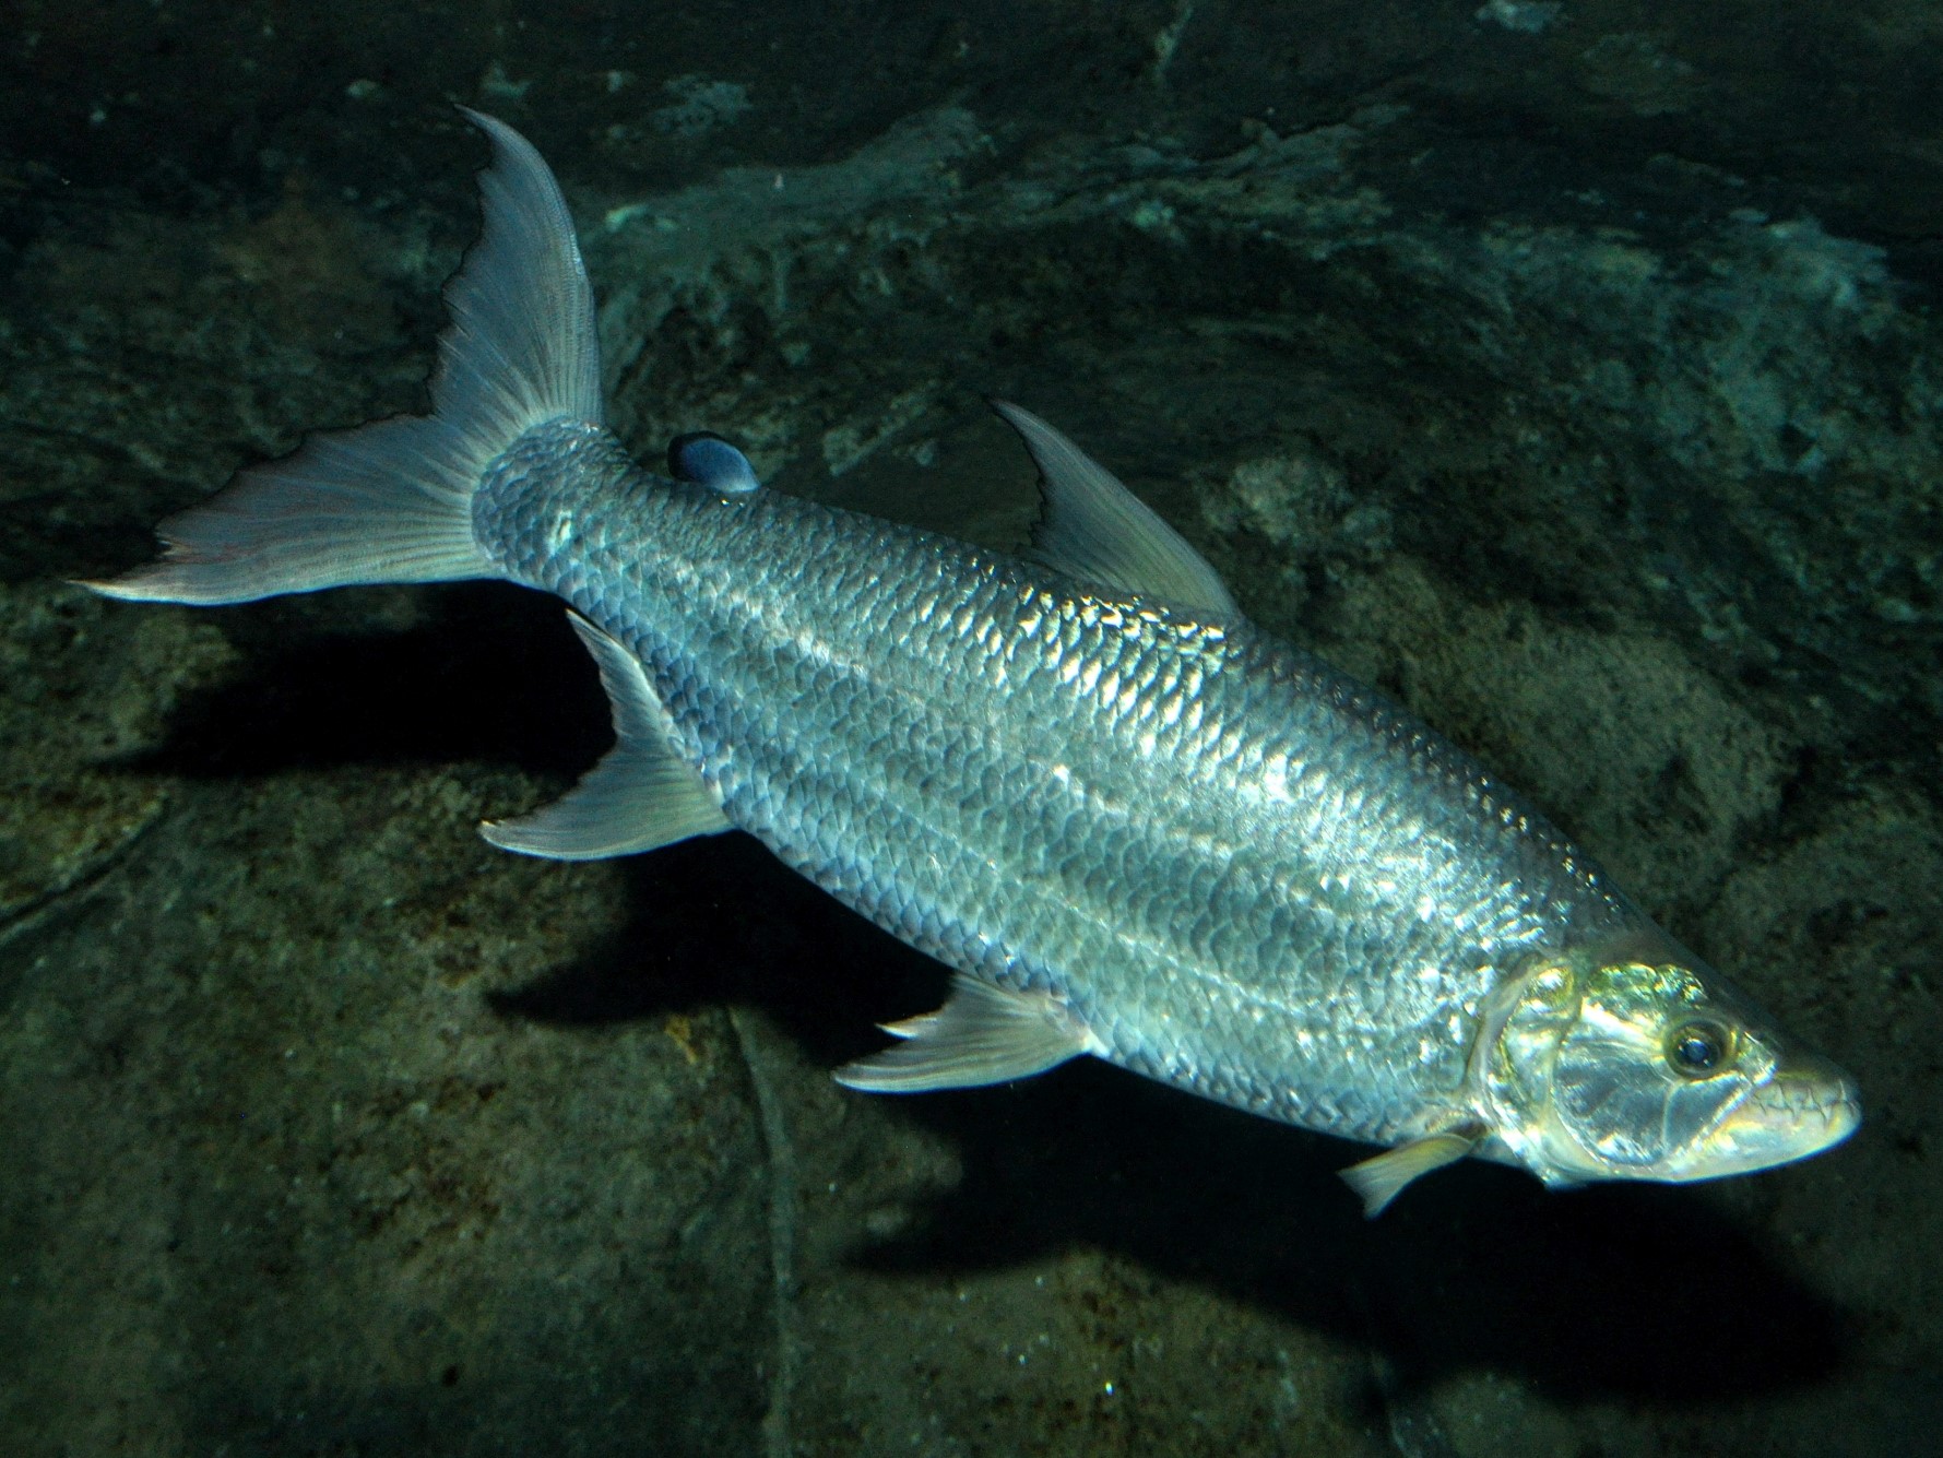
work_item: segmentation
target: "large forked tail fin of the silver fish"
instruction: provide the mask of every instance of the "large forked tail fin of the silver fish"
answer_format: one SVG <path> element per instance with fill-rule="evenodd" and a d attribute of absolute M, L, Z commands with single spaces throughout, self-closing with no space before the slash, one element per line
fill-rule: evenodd
<path fill-rule="evenodd" d="M 488 463 L 532 426 L 600 418 L 600 346 L 573 218 L 552 171 L 505 122 L 460 109 L 492 138 L 484 226 L 445 299 L 431 414 L 315 435 L 251 467 L 155 531 L 159 562 L 107 597 L 249 603 L 350 583 L 499 575 L 472 538 Z"/>

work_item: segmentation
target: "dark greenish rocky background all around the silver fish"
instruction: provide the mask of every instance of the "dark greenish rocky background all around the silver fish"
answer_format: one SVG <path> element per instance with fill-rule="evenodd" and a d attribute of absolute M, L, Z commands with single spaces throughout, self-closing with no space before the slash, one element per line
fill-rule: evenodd
<path fill-rule="evenodd" d="M 0 1452 L 1863 1454 L 1943 1431 L 1943 103 L 1914 0 L 0 12 Z M 725 838 L 476 840 L 558 607 L 60 579 L 422 402 L 528 132 L 612 416 L 1016 542 L 1117 467 L 1858 1073 L 1551 1196 L 1106 1067 L 826 1071 L 937 968 Z"/>

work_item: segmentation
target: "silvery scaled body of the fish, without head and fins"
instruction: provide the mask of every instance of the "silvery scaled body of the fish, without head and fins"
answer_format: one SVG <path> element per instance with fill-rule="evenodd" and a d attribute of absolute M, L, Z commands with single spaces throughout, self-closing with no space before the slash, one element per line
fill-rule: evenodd
<path fill-rule="evenodd" d="M 1455 748 L 1247 624 L 721 498 L 585 426 L 515 445 L 474 521 L 639 657 L 734 824 L 1220 1102 L 1380 1143 L 1461 1118 L 1498 970 L 1626 918 L 1541 820 L 1479 815 Z"/>

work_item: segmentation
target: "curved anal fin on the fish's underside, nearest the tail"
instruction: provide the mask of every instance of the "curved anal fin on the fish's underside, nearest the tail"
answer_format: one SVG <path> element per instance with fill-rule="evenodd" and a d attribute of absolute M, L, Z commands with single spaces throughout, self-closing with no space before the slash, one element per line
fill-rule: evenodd
<path fill-rule="evenodd" d="M 633 653 L 587 618 L 571 614 L 571 622 L 600 669 L 616 745 L 552 805 L 513 820 L 488 820 L 480 834 L 523 855 L 598 861 L 731 830 L 721 801 L 680 758 L 666 710 Z"/>

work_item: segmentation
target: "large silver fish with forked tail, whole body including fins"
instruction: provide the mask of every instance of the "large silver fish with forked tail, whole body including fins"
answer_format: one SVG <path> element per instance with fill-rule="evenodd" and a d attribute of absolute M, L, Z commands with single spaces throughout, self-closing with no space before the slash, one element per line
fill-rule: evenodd
<path fill-rule="evenodd" d="M 1826 1149 L 1856 1089 L 1795 1052 L 1451 745 L 1277 642 L 1045 422 L 1024 558 L 762 490 L 725 441 L 670 476 L 602 428 L 593 294 L 540 156 L 492 138 L 433 414 L 321 435 L 89 583 L 243 603 L 503 577 L 563 597 L 614 750 L 507 850 L 746 830 L 954 968 L 853 1089 L 1094 1054 L 1387 1145 L 1374 1213 L 1473 1153 L 1549 1184 L 1702 1180 Z"/>

